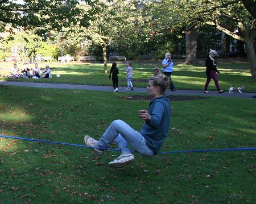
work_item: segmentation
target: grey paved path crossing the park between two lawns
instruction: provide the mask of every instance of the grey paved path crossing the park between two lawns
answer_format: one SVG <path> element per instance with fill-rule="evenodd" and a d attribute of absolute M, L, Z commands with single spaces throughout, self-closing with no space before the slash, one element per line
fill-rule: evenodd
<path fill-rule="evenodd" d="M 34 82 L 13 82 L 13 81 L 0 81 L 0 85 L 11 85 L 11 86 L 29 86 L 35 88 L 53 88 L 53 89 L 77 89 L 77 90 L 97 90 L 97 91 L 112 91 L 112 86 L 94 86 L 94 85 L 79 85 L 79 84 L 53 84 L 53 83 L 34 83 Z M 125 87 L 118 88 L 120 92 L 132 92 L 132 93 L 147 93 L 146 88 L 134 88 L 133 91 L 126 91 Z M 203 90 L 184 90 L 177 89 L 176 91 L 167 90 L 169 95 L 206 95 L 210 97 L 232 97 L 232 98 L 253 98 L 256 95 L 255 92 L 243 92 L 242 94 L 233 93 L 229 94 L 225 91 L 219 94 L 218 91 L 210 91 L 210 94 L 205 94 Z"/>

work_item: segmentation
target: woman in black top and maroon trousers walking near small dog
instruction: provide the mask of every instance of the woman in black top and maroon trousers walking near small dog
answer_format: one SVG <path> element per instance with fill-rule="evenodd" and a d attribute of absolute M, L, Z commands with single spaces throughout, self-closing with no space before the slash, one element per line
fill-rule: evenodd
<path fill-rule="evenodd" d="M 220 85 L 218 85 L 218 77 L 217 73 L 220 73 L 216 68 L 216 61 L 214 60 L 214 57 L 216 56 L 216 51 L 213 49 L 210 49 L 209 57 L 205 60 L 205 66 L 206 66 L 206 74 L 207 74 L 207 82 L 204 85 L 204 93 L 209 94 L 208 91 L 208 85 L 210 83 L 210 80 L 214 80 L 215 86 L 218 89 L 218 93 L 223 93 L 224 90 L 220 89 Z"/>

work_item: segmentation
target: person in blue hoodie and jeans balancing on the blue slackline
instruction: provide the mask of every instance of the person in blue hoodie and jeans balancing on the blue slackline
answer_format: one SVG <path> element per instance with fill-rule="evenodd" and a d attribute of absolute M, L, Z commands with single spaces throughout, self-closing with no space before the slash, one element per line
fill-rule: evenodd
<path fill-rule="evenodd" d="M 160 148 L 168 136 L 171 119 L 171 108 L 168 94 L 165 93 L 169 85 L 168 77 L 158 74 L 152 76 L 147 84 L 148 95 L 152 97 L 148 110 L 139 110 L 139 118 L 144 120 L 141 131 L 135 131 L 129 124 L 122 120 L 114 120 L 106 129 L 99 141 L 88 135 L 84 136 L 84 142 L 98 155 L 104 153 L 115 141 L 122 154 L 109 163 L 112 168 L 121 168 L 124 165 L 134 163 L 134 155 L 128 144 L 143 156 L 153 157 L 159 153 Z"/>

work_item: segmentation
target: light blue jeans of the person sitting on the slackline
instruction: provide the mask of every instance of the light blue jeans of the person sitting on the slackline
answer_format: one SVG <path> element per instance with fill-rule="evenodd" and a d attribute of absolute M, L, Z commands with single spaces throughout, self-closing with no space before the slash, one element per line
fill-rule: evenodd
<path fill-rule="evenodd" d="M 124 155 L 131 153 L 131 149 L 128 147 L 129 143 L 135 151 L 143 156 L 154 156 L 154 152 L 146 145 L 146 139 L 122 120 L 114 120 L 110 124 L 98 142 L 98 147 L 109 148 L 113 141 L 115 141 Z"/>

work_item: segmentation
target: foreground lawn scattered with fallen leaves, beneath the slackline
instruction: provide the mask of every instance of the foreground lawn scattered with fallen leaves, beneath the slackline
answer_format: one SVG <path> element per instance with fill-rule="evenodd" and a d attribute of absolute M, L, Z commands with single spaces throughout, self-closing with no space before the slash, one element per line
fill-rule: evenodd
<path fill-rule="evenodd" d="M 148 101 L 119 98 L 130 94 L 2 86 L 1 135 L 83 144 L 83 135 L 99 139 L 114 119 L 140 130 L 138 110 L 147 109 Z M 161 151 L 255 147 L 253 102 L 171 101 L 170 131 Z M 122 169 L 108 166 L 119 155 L 114 151 L 98 156 L 84 147 L 6 138 L 0 138 L 0 151 L 2 203 L 256 202 L 255 151 L 153 159 L 135 153 L 135 163 Z"/>

